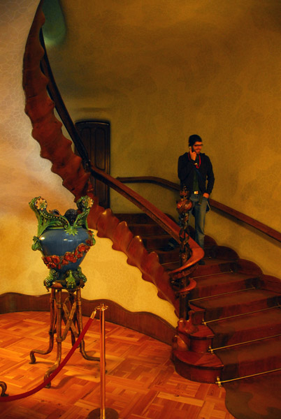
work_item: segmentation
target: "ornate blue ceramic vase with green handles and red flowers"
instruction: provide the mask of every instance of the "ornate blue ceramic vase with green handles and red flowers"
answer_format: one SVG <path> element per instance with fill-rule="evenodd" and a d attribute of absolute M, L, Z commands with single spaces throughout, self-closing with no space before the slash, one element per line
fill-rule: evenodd
<path fill-rule="evenodd" d="M 67 290 L 84 286 L 87 281 L 80 263 L 90 247 L 95 244 L 94 235 L 87 226 L 87 216 L 93 201 L 83 196 L 77 201 L 78 210 L 67 210 L 64 215 L 57 210 L 47 211 L 47 201 L 41 196 L 31 200 L 29 206 L 36 214 L 38 232 L 32 249 L 40 250 L 49 269 L 44 285 L 54 283 Z"/>

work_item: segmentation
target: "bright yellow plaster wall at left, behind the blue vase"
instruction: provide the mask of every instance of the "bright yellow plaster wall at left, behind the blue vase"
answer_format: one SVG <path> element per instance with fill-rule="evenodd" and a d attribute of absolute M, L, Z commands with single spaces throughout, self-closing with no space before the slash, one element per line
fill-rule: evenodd
<path fill-rule="evenodd" d="M 0 295 L 46 293 L 43 279 L 48 269 L 41 253 L 31 250 L 37 221 L 29 201 L 43 196 L 49 210 L 56 208 L 62 214 L 75 207 L 62 179 L 50 171 L 50 162 L 41 159 L 40 147 L 31 137 L 31 123 L 24 114 L 22 57 L 37 6 L 38 1 L 31 0 L 0 3 Z M 82 297 L 113 300 L 130 311 L 150 311 L 176 325 L 172 305 L 160 300 L 157 288 L 143 281 L 141 272 L 127 265 L 124 253 L 111 246 L 110 240 L 96 237 L 96 245 L 82 263 L 88 279 Z"/>

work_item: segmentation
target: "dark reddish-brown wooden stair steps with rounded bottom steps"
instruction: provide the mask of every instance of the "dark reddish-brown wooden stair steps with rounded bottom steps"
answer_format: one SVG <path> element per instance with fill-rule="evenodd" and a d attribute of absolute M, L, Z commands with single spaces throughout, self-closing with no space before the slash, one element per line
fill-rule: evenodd
<path fill-rule="evenodd" d="M 166 270 L 179 267 L 178 249 L 163 250 L 170 237 L 145 214 L 117 218 L 141 235 L 147 250 L 158 253 Z M 179 322 L 176 330 L 176 371 L 192 381 L 221 383 L 281 370 L 280 279 L 208 236 L 204 261 L 192 274 L 196 288 L 189 294 L 189 321 Z"/>

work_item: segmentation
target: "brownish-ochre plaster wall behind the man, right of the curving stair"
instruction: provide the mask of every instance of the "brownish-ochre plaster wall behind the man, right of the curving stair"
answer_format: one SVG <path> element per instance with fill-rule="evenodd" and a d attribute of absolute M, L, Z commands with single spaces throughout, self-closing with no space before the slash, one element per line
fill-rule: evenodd
<path fill-rule="evenodd" d="M 96 6 L 96 7 L 94 7 Z M 62 1 L 66 39 L 49 57 L 75 121 L 111 123 L 111 175 L 178 182 L 198 133 L 212 198 L 281 230 L 281 3 Z M 132 186 L 177 216 L 175 193 Z M 111 192 L 115 213 L 138 212 Z M 206 233 L 280 276 L 280 243 L 214 212 Z"/>

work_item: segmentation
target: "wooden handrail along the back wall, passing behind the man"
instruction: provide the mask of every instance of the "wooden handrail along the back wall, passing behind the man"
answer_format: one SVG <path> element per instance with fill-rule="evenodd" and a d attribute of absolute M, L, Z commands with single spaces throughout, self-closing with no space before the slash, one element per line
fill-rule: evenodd
<path fill-rule="evenodd" d="M 180 191 L 180 185 L 174 182 L 170 182 L 169 180 L 163 179 L 161 177 L 136 176 L 136 177 L 117 177 L 117 179 L 120 180 L 120 182 L 124 182 L 124 183 L 154 183 L 164 188 L 172 189 L 174 191 Z M 279 233 L 279 231 L 277 230 L 274 230 L 274 228 L 266 226 L 266 224 L 261 223 L 260 221 L 257 221 L 253 219 L 252 217 L 247 216 L 246 214 L 243 214 L 243 212 L 234 210 L 233 208 L 228 207 L 227 205 L 224 205 L 222 203 L 219 203 L 216 200 L 213 200 L 211 198 L 210 198 L 210 205 L 216 208 L 216 210 L 222 211 L 224 212 L 224 214 L 231 215 L 234 218 L 238 219 L 239 221 L 243 221 L 243 223 L 246 223 L 248 226 L 251 226 L 255 228 L 256 230 L 261 231 L 261 233 L 264 233 L 268 235 L 269 237 L 272 237 L 273 239 L 277 240 L 278 242 L 281 242 L 281 233 Z"/>

